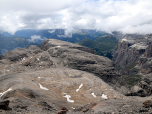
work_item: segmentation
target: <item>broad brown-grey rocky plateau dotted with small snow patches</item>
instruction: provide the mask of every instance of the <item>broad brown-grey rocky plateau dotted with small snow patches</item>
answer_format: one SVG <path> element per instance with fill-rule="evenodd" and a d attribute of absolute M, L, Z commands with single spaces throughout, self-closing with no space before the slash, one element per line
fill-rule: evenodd
<path fill-rule="evenodd" d="M 72 43 L 47 39 L 0 56 L 0 107 L 10 113 L 94 114 L 99 101 L 125 99 L 125 86 L 110 59 Z"/>

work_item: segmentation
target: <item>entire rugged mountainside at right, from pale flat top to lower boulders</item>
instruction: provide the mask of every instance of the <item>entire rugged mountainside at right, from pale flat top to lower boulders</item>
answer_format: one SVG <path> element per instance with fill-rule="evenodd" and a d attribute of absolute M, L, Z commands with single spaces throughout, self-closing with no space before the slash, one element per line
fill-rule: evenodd
<path fill-rule="evenodd" d="M 132 86 L 131 93 L 128 95 L 151 95 L 151 42 L 152 34 L 138 39 L 126 37 L 119 42 L 113 61 L 128 84 Z"/>

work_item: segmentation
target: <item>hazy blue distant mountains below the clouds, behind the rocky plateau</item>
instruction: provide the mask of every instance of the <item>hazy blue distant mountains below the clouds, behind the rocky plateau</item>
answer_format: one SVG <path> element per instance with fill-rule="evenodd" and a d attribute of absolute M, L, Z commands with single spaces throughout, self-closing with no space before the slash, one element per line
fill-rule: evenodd
<path fill-rule="evenodd" d="M 90 40 L 95 40 L 100 36 L 108 35 L 108 33 L 103 31 L 87 30 L 81 29 L 73 31 L 71 35 L 65 35 L 65 29 L 49 29 L 49 30 L 20 30 L 14 35 L 10 33 L 3 32 L 0 34 L 0 55 L 8 50 L 13 50 L 15 48 L 21 47 L 26 48 L 29 45 L 40 46 L 43 40 L 47 38 L 58 39 L 62 41 L 68 41 L 71 43 L 77 43 L 83 40 L 85 37 Z"/>

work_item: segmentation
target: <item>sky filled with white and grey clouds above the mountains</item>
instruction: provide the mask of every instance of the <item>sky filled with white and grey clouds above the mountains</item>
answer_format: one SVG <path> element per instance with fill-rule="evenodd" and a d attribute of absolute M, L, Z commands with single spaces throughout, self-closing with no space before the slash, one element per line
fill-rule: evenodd
<path fill-rule="evenodd" d="M 0 31 L 95 29 L 152 33 L 152 0 L 0 0 Z"/>

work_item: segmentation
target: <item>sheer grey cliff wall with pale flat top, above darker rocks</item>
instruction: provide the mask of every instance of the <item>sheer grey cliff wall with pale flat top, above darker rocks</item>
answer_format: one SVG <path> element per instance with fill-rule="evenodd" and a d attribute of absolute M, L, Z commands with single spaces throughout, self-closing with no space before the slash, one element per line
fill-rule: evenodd
<path fill-rule="evenodd" d="M 120 40 L 113 57 L 115 65 L 124 68 L 127 65 L 136 62 L 140 56 L 143 56 L 143 54 L 145 54 L 146 57 L 146 55 L 151 53 L 149 50 L 151 41 L 151 35 L 145 35 L 138 39 L 130 36 L 124 37 Z"/>

